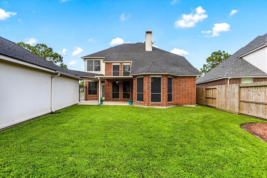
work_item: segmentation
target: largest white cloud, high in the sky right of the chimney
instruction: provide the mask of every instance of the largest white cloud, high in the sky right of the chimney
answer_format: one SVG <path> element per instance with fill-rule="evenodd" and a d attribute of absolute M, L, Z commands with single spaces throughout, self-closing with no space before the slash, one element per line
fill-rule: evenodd
<path fill-rule="evenodd" d="M 177 20 L 174 25 L 175 28 L 189 28 L 194 27 L 198 22 L 203 21 L 208 15 L 205 14 L 206 10 L 202 9 L 201 6 L 197 7 L 195 11 L 190 14 L 183 14 L 182 18 Z"/>

